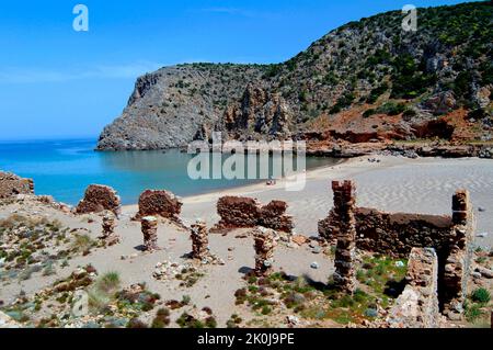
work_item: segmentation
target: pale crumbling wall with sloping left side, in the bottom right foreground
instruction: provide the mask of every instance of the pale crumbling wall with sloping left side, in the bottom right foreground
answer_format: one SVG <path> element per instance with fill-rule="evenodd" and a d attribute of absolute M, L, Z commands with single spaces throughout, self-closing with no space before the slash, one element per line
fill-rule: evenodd
<path fill-rule="evenodd" d="M 438 257 L 435 249 L 413 248 L 409 257 L 406 286 L 389 312 L 393 328 L 439 327 Z"/>

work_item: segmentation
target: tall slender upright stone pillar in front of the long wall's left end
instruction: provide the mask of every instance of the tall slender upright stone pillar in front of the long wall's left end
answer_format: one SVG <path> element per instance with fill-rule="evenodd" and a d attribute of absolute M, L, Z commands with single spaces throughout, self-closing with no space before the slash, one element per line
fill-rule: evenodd
<path fill-rule="evenodd" d="M 334 216 L 336 218 L 335 233 L 337 246 L 335 250 L 334 283 L 337 289 L 346 293 L 355 290 L 355 249 L 356 249 L 356 221 L 355 221 L 355 184 L 353 181 L 332 182 L 334 192 Z"/>

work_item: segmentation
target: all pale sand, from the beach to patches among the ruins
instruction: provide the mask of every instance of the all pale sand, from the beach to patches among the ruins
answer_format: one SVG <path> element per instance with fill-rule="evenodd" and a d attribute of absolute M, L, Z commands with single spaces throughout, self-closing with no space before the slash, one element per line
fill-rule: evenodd
<path fill-rule="evenodd" d="M 332 206 L 330 181 L 353 179 L 358 188 L 358 206 L 377 207 L 389 212 L 415 212 L 428 214 L 451 213 L 451 196 L 457 189 L 468 189 L 478 219 L 478 233 L 489 233 L 477 238 L 477 244 L 491 247 L 493 244 L 493 163 L 480 159 L 406 159 L 401 157 L 355 158 L 341 165 L 321 168 L 307 173 L 307 185 L 301 192 L 286 192 L 283 182 L 275 187 L 255 184 L 231 189 L 218 193 L 183 199 L 181 217 L 185 224 L 202 218 L 210 227 L 218 221 L 217 200 L 222 195 L 253 196 L 267 203 L 283 200 L 289 205 L 288 213 L 294 216 L 297 234 L 307 237 L 317 235 L 317 223 L 324 218 Z M 482 211 L 479 212 L 478 208 Z M 57 268 L 57 274 L 42 276 L 33 274 L 30 280 L 3 284 L 0 300 L 5 303 L 14 300 L 21 291 L 27 295 L 56 280 L 67 276 L 79 266 L 91 263 L 100 272 L 117 271 L 124 285 L 146 282 L 149 290 L 159 293 L 162 300 L 181 300 L 190 295 L 197 307 L 214 309 L 218 323 L 225 325 L 234 308 L 234 291 L 244 283 L 242 276 L 253 267 L 254 251 L 251 238 L 237 238 L 238 233 L 228 236 L 211 235 L 210 249 L 225 260 L 225 266 L 205 267 L 206 273 L 193 287 L 183 289 L 179 281 L 157 281 L 152 272 L 158 262 L 182 263 L 191 251 L 188 234 L 172 224 L 160 224 L 159 245 L 164 248 L 154 253 L 142 253 L 137 247 L 142 244 L 139 223 L 130 217 L 137 212 L 136 205 L 125 206 L 118 221 L 116 233 L 122 242 L 107 249 L 96 249 L 87 257 L 70 260 L 65 268 Z M 12 213 L 43 214 L 59 219 L 70 228 L 83 229 L 96 238 L 101 233 L 101 218 L 98 216 L 73 216 L 64 214 L 42 204 L 25 206 L 10 204 L 0 207 L 0 218 Z M 92 218 L 94 222 L 91 222 Z M 320 268 L 310 266 L 317 262 Z M 308 275 L 313 281 L 326 282 L 333 271 L 333 261 L 324 255 L 313 255 L 309 247 L 276 249 L 275 267 L 291 275 Z M 179 314 L 173 317 L 177 317 Z"/>

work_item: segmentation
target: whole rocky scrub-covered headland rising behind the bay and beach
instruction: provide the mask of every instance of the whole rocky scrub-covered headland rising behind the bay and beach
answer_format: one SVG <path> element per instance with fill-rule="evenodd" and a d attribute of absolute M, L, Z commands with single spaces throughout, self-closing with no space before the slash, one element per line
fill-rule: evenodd
<path fill-rule="evenodd" d="M 400 11 L 348 23 L 278 65 L 195 64 L 138 79 L 100 149 L 156 149 L 207 138 L 490 140 L 491 2 Z M 323 138 L 322 137 L 322 138 Z"/>

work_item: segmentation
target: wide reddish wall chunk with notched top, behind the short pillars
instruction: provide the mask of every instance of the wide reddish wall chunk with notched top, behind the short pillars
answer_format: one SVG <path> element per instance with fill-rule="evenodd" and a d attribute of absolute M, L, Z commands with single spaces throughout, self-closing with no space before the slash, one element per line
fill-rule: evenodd
<path fill-rule="evenodd" d="M 286 202 L 272 201 L 262 205 L 257 200 L 241 196 L 223 196 L 217 203 L 220 222 L 214 232 L 257 226 L 290 234 L 294 228 L 293 216 L 286 215 Z"/>

